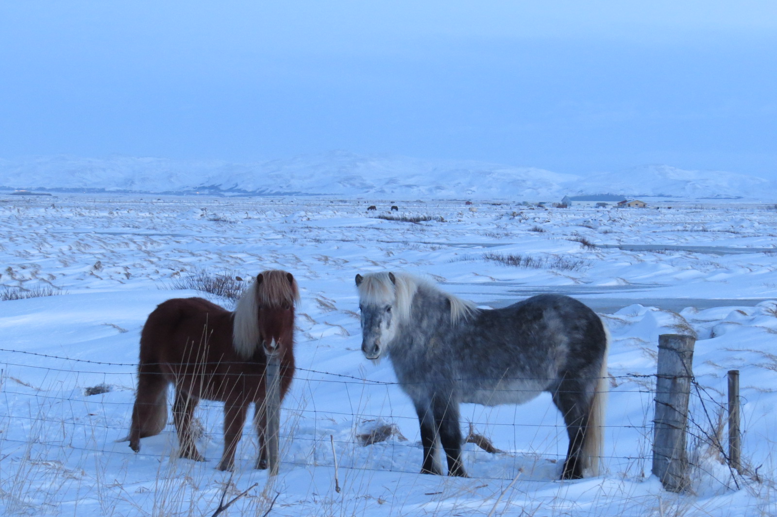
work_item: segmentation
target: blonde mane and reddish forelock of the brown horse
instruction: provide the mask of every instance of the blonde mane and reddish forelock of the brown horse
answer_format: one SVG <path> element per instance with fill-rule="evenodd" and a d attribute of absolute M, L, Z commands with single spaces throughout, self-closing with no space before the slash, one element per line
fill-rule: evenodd
<path fill-rule="evenodd" d="M 262 271 L 256 281 L 243 292 L 235 307 L 232 323 L 232 345 L 242 358 L 249 358 L 260 346 L 260 307 L 294 306 L 299 302 L 297 281 L 286 271 L 272 269 Z M 262 278 L 262 281 L 259 281 Z"/>

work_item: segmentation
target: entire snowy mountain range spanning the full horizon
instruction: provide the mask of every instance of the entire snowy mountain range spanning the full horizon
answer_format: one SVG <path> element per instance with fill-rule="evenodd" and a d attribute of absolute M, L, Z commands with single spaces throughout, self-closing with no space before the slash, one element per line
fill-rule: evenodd
<path fill-rule="evenodd" d="M 777 185 L 769 180 L 665 165 L 581 177 L 489 162 L 434 161 L 342 151 L 253 163 L 124 156 L 0 160 L 0 187 L 514 200 L 554 200 L 565 194 L 604 193 L 629 197 L 777 197 Z"/>

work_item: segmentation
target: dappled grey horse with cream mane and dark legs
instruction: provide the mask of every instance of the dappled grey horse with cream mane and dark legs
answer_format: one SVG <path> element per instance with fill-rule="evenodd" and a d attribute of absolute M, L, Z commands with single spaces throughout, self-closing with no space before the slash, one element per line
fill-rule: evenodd
<path fill-rule="evenodd" d="M 568 296 L 539 295 L 503 309 L 472 302 L 401 273 L 356 275 L 361 351 L 384 354 L 416 407 L 421 473 L 466 476 L 458 404 L 524 403 L 552 394 L 570 437 L 562 479 L 598 474 L 608 337 L 599 317 Z"/>

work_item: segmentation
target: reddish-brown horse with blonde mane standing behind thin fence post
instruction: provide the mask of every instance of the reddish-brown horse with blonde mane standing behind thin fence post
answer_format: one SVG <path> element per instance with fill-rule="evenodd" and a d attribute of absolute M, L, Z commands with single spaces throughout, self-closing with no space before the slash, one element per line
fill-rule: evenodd
<path fill-rule="evenodd" d="M 280 354 L 280 397 L 294 377 L 294 303 L 297 282 L 285 271 L 263 271 L 246 289 L 234 313 L 201 298 L 162 302 L 141 333 L 138 394 L 132 409 L 130 447 L 158 435 L 167 423 L 167 388 L 176 387 L 172 408 L 180 457 L 204 461 L 192 435 L 192 416 L 200 399 L 221 400 L 224 454 L 218 470 L 232 470 L 249 403 L 255 403 L 259 433 L 257 469 L 267 468 L 263 407 L 268 351 Z"/>

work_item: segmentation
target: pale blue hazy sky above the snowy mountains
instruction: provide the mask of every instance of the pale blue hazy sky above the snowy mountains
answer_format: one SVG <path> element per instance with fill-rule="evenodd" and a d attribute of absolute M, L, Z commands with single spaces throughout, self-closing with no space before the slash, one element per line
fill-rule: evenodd
<path fill-rule="evenodd" d="M 771 0 L 0 0 L 0 157 L 777 177 L 775 49 Z"/>

